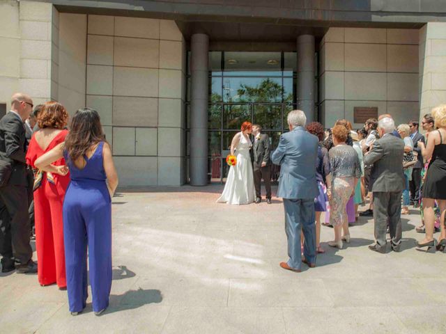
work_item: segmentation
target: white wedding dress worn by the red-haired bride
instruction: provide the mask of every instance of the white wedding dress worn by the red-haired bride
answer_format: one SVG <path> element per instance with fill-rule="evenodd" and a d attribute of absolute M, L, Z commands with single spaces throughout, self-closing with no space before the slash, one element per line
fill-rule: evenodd
<path fill-rule="evenodd" d="M 240 142 L 236 148 L 237 164 L 229 167 L 228 177 L 222 196 L 218 198 L 218 203 L 227 204 L 249 204 L 254 202 L 254 175 L 252 173 L 251 157 L 249 149 L 252 143 L 249 138 L 240 134 Z"/>

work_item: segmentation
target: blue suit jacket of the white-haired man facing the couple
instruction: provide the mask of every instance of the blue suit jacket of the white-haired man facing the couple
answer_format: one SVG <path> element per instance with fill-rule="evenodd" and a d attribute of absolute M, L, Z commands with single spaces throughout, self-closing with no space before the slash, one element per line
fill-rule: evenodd
<path fill-rule="evenodd" d="M 273 164 L 280 165 L 277 197 L 308 199 L 318 196 L 317 156 L 318 138 L 303 127 L 295 127 L 280 136 L 271 157 Z"/>

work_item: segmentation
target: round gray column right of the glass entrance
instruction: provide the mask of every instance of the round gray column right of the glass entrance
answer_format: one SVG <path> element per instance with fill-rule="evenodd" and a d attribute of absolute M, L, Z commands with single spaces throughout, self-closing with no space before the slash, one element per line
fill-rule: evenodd
<path fill-rule="evenodd" d="M 314 35 L 298 36 L 298 109 L 305 112 L 307 122 L 314 114 Z"/>

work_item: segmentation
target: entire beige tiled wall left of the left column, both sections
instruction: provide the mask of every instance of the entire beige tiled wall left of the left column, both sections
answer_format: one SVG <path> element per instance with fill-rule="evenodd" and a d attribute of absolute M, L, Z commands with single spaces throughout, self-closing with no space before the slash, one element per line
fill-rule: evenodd
<path fill-rule="evenodd" d="M 174 21 L 0 2 L 0 103 L 98 109 L 123 186 L 185 182 L 185 41 Z"/>

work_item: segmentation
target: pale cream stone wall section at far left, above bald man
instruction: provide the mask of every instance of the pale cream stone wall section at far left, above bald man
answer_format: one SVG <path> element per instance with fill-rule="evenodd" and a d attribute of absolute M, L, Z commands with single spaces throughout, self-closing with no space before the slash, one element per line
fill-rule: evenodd
<path fill-rule="evenodd" d="M 0 1 L 0 103 L 23 91 L 34 104 L 57 98 L 58 14 L 50 3 Z"/>

